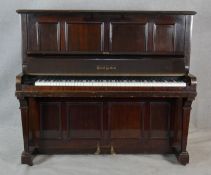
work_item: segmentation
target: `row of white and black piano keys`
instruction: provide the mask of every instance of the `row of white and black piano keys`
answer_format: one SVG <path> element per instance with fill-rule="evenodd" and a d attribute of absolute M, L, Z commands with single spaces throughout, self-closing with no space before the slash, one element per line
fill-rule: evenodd
<path fill-rule="evenodd" d="M 182 80 L 67 80 L 38 79 L 35 86 L 90 86 L 90 87 L 186 87 Z"/>

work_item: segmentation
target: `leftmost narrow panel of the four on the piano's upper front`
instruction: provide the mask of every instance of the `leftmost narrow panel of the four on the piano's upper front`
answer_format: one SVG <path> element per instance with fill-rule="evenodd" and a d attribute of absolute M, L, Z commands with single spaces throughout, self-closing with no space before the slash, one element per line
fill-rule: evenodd
<path fill-rule="evenodd" d="M 28 51 L 60 51 L 61 24 L 58 17 L 29 15 Z"/>

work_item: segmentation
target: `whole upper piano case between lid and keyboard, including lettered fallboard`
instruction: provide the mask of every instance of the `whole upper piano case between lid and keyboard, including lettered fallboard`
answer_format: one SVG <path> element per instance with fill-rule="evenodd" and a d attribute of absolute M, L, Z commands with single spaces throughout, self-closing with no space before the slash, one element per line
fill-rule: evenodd
<path fill-rule="evenodd" d="M 189 71 L 190 14 L 21 15 L 25 74 L 137 76 Z"/>

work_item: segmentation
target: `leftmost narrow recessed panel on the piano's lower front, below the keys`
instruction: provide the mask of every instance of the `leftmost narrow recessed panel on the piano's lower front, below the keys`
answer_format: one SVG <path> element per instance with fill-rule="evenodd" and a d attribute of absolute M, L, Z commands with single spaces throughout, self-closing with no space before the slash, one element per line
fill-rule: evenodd
<path fill-rule="evenodd" d="M 61 105 L 59 102 L 40 102 L 41 138 L 61 138 Z"/>

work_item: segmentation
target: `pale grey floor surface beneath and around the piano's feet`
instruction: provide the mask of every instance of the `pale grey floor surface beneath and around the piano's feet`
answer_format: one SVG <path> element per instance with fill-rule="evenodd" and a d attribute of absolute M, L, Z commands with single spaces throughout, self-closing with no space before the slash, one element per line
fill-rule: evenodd
<path fill-rule="evenodd" d="M 21 165 L 21 128 L 0 128 L 0 175 L 211 175 L 211 131 L 189 133 L 190 163 L 174 155 L 37 156 L 34 166 Z"/>

